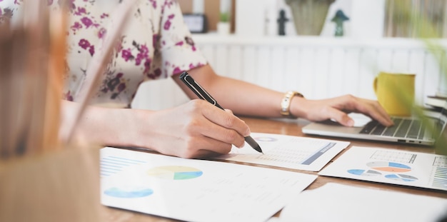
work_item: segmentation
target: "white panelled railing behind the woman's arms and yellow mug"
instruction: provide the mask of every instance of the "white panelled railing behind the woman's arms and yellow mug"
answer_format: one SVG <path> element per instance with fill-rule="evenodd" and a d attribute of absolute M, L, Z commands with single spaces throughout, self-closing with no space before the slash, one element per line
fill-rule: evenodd
<path fill-rule="evenodd" d="M 301 91 L 309 99 L 353 94 L 376 99 L 373 79 L 379 71 L 416 74 L 416 101 L 436 94 L 447 65 L 447 40 L 437 41 L 441 62 L 415 39 L 334 39 L 322 37 L 238 37 L 194 35 L 214 70 L 277 91 Z M 165 109 L 188 98 L 174 81 L 141 86 L 134 107 Z"/>

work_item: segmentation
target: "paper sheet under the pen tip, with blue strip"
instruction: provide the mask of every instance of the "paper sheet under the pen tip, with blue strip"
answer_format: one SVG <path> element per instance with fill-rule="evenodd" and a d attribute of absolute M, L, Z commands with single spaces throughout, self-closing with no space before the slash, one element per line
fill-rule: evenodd
<path fill-rule="evenodd" d="M 264 154 L 256 152 L 246 144 L 243 148 L 233 146 L 229 154 L 216 158 L 304 171 L 320 171 L 349 145 L 346 141 L 271 133 L 251 133 L 251 137 L 258 142 Z"/>

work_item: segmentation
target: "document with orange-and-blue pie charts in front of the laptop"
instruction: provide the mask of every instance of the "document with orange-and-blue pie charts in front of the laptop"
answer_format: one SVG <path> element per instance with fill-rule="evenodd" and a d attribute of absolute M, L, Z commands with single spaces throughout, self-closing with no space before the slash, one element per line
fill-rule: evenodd
<path fill-rule="evenodd" d="M 447 156 L 353 146 L 318 174 L 447 191 Z"/>

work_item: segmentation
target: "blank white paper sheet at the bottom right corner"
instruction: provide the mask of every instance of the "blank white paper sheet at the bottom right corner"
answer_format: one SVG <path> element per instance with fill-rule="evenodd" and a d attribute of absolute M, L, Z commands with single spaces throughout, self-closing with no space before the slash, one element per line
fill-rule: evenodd
<path fill-rule="evenodd" d="M 326 183 L 300 193 L 279 221 L 438 222 L 446 216 L 445 198 Z"/>

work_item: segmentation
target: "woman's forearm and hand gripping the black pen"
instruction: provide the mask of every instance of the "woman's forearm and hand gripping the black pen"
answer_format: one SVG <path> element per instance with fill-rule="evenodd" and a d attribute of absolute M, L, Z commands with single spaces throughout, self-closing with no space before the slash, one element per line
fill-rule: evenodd
<path fill-rule="evenodd" d="M 74 120 L 79 104 L 64 101 L 62 128 Z M 170 156 L 197 158 L 243 146 L 250 130 L 233 114 L 206 101 L 149 111 L 89 106 L 74 136 L 101 146 L 150 148 Z"/>

